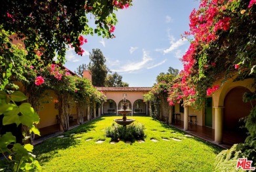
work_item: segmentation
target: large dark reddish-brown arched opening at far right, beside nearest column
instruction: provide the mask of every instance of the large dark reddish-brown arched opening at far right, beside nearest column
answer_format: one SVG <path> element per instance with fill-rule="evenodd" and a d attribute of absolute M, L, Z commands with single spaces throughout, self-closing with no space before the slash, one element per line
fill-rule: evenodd
<path fill-rule="evenodd" d="M 244 122 L 240 119 L 248 116 L 252 108 L 250 102 L 244 103 L 243 101 L 245 92 L 250 91 L 243 86 L 238 86 L 230 90 L 224 98 L 223 129 L 225 132 L 238 135 L 240 142 L 244 142 L 247 136 L 247 129 L 241 128 Z"/>

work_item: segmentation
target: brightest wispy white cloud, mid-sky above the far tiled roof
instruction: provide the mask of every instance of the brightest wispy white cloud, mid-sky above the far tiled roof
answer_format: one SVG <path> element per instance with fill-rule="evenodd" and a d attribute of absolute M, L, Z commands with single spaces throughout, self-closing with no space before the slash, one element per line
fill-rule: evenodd
<path fill-rule="evenodd" d="M 120 73 L 133 73 L 135 71 L 139 71 L 140 69 L 145 68 L 148 65 L 149 61 L 152 61 L 152 58 L 148 55 L 148 52 L 143 51 L 142 61 L 139 62 L 130 62 L 121 66 L 120 69 L 111 69 L 114 72 Z"/>

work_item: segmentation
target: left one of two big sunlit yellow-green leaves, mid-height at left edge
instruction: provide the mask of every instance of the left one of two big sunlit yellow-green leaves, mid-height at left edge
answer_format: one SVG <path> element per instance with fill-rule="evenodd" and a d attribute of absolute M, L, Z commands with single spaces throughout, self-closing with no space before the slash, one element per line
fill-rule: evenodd
<path fill-rule="evenodd" d="M 9 109 L 11 109 L 11 111 L 4 112 L 5 116 L 3 117 L 3 125 L 5 126 L 8 124 L 16 123 L 16 125 L 18 126 L 20 124 L 20 119 L 18 118 L 18 113 L 20 112 L 20 109 L 16 105 L 9 105 Z"/>

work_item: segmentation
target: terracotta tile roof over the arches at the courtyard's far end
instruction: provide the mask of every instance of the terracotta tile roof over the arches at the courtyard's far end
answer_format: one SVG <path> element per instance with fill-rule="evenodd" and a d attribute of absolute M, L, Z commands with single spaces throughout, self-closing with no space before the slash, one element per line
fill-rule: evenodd
<path fill-rule="evenodd" d="M 102 92 L 149 92 L 151 87 L 96 87 Z"/>

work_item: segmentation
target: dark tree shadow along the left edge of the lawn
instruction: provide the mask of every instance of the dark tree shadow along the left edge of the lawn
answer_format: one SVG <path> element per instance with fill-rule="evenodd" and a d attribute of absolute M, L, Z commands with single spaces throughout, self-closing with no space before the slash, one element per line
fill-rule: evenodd
<path fill-rule="evenodd" d="M 33 153 L 39 156 L 39 162 L 49 162 L 55 154 L 58 154 L 58 150 L 63 150 L 70 146 L 75 146 L 77 143 L 79 143 L 79 140 L 73 137 L 74 134 L 93 131 L 96 127 L 96 122 L 100 120 L 104 119 L 102 117 L 96 118 L 85 124 L 82 124 L 81 126 L 77 126 L 77 128 L 70 129 L 69 131 L 60 134 L 61 137 L 57 136 L 51 139 L 47 139 L 46 141 L 43 141 L 43 143 L 36 145 L 33 149 Z"/>

